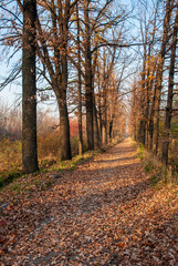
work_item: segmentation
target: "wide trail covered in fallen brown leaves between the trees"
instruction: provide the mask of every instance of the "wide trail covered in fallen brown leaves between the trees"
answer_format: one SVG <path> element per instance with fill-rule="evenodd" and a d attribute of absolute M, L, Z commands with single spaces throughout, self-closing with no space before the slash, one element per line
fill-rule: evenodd
<path fill-rule="evenodd" d="M 3 211 L 1 265 L 177 265 L 177 187 L 155 190 L 130 139 Z"/>

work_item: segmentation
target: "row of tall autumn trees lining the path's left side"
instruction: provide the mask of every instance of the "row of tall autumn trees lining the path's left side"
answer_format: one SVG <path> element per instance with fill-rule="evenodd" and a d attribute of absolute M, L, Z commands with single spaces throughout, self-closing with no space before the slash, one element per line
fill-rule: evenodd
<path fill-rule="evenodd" d="M 78 152 L 83 153 L 83 113 L 87 149 L 105 144 L 116 134 L 116 113 L 123 121 L 119 98 L 126 12 L 114 0 L 0 1 L 1 44 L 22 60 L 1 88 L 22 73 L 22 163 L 25 173 L 38 170 L 36 90 L 53 90 L 60 111 L 60 158 L 71 158 L 69 108 L 78 116 Z M 6 13 L 6 16 L 4 16 Z M 7 50 L 4 50 L 7 51 Z M 125 65 L 125 64 L 124 64 Z M 40 85 L 41 84 L 41 85 Z M 118 104 L 119 109 L 118 108 Z M 115 129 L 115 132 L 114 132 Z"/>

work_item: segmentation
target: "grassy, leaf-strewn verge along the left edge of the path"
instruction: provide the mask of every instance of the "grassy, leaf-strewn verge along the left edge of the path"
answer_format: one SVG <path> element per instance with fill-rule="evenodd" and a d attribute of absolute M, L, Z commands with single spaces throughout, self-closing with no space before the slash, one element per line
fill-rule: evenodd
<path fill-rule="evenodd" d="M 11 198 L 18 194 L 30 198 L 31 192 L 35 190 L 45 191 L 55 184 L 56 180 L 51 177 L 53 172 L 74 171 L 82 162 L 95 157 L 115 144 L 116 142 L 109 143 L 104 150 L 87 151 L 83 155 L 75 155 L 72 160 L 63 162 L 56 162 L 52 156 L 45 157 L 40 163 L 40 171 L 29 175 L 22 174 L 19 168 L 9 173 L 4 171 L 3 174 L 0 174 L 0 201 L 3 202 L 4 198 Z"/>

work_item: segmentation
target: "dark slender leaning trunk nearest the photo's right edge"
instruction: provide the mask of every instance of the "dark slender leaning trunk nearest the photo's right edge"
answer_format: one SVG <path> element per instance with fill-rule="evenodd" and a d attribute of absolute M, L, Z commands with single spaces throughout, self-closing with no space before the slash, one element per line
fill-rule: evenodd
<path fill-rule="evenodd" d="M 176 45 L 177 45 L 177 32 L 178 32 L 178 3 L 175 18 L 172 43 L 171 43 L 171 57 L 170 57 L 170 69 L 169 69 L 169 83 L 168 83 L 168 96 L 166 106 L 166 119 L 165 119 L 165 141 L 163 143 L 163 162 L 168 163 L 168 151 L 169 151 L 169 134 L 170 134 L 170 122 L 172 111 L 172 96 L 174 96 L 174 75 L 175 75 L 175 58 L 176 58 Z"/>

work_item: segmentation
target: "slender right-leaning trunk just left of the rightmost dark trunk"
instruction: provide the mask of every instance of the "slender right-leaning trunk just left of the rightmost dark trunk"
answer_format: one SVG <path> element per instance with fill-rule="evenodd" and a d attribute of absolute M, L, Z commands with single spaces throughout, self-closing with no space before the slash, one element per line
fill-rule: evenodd
<path fill-rule="evenodd" d="M 157 154 L 158 151 L 158 133 L 159 133 L 159 105 L 163 83 L 164 63 L 166 57 L 166 44 L 168 42 L 169 21 L 171 17 L 171 3 L 174 1 L 167 0 L 166 16 L 164 21 L 164 37 L 160 50 L 160 57 L 158 59 L 157 75 L 156 75 L 156 90 L 155 90 L 155 106 L 154 106 L 154 133 L 153 133 L 153 152 Z"/>

